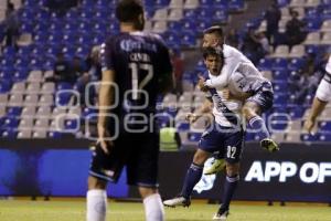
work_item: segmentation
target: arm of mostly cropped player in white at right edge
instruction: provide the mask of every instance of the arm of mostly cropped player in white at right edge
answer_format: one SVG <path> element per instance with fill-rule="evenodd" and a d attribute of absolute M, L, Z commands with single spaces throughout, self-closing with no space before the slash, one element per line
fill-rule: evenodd
<path fill-rule="evenodd" d="M 309 133 L 312 133 L 317 117 L 323 112 L 328 102 L 331 101 L 331 55 L 329 56 L 325 71 L 327 73 L 316 92 L 310 114 L 303 125 Z"/>

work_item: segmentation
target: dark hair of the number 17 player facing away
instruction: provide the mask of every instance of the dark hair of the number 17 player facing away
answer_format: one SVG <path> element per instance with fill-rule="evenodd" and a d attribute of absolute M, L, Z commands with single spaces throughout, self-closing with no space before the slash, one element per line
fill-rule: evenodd
<path fill-rule="evenodd" d="M 135 22 L 140 14 L 143 14 L 140 0 L 121 0 L 116 7 L 116 18 L 119 22 Z"/>

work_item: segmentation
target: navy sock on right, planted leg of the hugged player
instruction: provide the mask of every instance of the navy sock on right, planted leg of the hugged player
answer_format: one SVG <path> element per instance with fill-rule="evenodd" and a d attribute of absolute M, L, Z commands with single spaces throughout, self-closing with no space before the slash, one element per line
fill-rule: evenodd
<path fill-rule="evenodd" d="M 224 183 L 223 200 L 221 206 L 222 211 L 228 210 L 231 199 L 237 188 L 238 181 L 239 181 L 238 175 L 235 175 L 233 177 L 226 176 L 225 183 Z"/>

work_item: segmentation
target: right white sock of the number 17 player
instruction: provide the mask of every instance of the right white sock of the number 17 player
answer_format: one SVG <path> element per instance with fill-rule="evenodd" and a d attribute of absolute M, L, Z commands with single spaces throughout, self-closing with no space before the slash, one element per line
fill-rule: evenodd
<path fill-rule="evenodd" d="M 146 221 L 163 221 L 164 208 L 159 193 L 151 194 L 143 199 Z"/>

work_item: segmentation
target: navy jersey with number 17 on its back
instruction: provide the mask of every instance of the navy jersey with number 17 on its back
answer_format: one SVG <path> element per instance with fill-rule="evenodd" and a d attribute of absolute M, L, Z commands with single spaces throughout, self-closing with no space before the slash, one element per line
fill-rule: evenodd
<path fill-rule="evenodd" d="M 119 99 L 115 112 L 121 114 L 154 113 L 159 83 L 172 73 L 162 39 L 143 32 L 108 38 L 102 48 L 102 66 L 115 72 Z"/>

